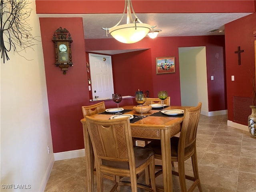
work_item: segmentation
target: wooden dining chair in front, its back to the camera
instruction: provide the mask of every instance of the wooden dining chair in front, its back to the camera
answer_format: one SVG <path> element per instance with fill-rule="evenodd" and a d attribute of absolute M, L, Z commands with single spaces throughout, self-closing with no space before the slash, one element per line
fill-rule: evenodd
<path fill-rule="evenodd" d="M 114 175 L 111 191 L 119 192 L 120 185 L 130 185 L 132 192 L 137 192 L 137 187 L 156 191 L 154 151 L 133 146 L 129 118 L 102 120 L 86 116 L 86 125 L 94 150 L 98 192 L 103 192 L 103 174 Z M 136 175 L 142 171 L 146 185 L 137 183 Z M 130 177 L 130 182 L 121 182 L 120 176 Z"/>

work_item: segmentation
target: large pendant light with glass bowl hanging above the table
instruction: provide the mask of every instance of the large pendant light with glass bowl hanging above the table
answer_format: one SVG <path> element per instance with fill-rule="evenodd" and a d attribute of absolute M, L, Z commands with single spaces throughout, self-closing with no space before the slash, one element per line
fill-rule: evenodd
<path fill-rule="evenodd" d="M 126 24 L 119 25 L 124 17 L 125 10 L 127 10 L 127 22 Z M 123 16 L 119 22 L 111 28 L 102 29 L 106 30 L 106 36 L 108 36 L 109 33 L 116 40 L 129 44 L 142 40 L 148 34 L 148 32 L 150 32 L 150 28 L 151 26 L 149 24 L 142 23 L 136 16 L 136 13 L 132 7 L 132 1 L 125 0 Z"/>

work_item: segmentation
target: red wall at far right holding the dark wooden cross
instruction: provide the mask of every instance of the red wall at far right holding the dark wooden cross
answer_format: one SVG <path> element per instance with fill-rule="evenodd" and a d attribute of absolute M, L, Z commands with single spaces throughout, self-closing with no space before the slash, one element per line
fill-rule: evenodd
<path fill-rule="evenodd" d="M 252 74 L 255 73 L 254 40 L 256 40 L 253 36 L 254 31 L 256 31 L 256 13 L 225 25 L 226 82 L 230 121 L 234 120 L 233 96 L 252 97 L 251 79 Z M 234 53 L 238 46 L 244 50 L 241 53 L 241 65 L 238 65 L 238 55 Z M 231 81 L 232 75 L 235 76 L 235 81 Z"/>

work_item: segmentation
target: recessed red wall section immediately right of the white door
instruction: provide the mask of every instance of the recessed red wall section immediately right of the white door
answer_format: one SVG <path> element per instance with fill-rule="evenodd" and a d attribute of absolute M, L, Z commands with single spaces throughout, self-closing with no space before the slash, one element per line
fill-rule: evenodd
<path fill-rule="evenodd" d="M 151 51 L 142 50 L 112 56 L 114 90 L 134 96 L 140 89 L 153 94 Z"/>

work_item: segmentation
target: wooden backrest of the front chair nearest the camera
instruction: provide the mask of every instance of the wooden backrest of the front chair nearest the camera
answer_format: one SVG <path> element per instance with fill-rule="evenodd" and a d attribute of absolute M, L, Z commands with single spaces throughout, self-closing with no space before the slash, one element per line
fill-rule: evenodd
<path fill-rule="evenodd" d="M 129 148 L 132 148 L 129 118 L 100 120 L 86 116 L 86 124 L 98 158 L 129 161 Z"/>

